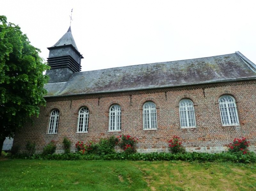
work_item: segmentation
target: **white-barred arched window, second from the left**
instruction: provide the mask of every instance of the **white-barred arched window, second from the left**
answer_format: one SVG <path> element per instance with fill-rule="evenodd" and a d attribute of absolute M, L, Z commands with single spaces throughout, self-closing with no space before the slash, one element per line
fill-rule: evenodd
<path fill-rule="evenodd" d="M 78 133 L 88 132 L 89 109 L 81 108 L 78 114 Z"/>

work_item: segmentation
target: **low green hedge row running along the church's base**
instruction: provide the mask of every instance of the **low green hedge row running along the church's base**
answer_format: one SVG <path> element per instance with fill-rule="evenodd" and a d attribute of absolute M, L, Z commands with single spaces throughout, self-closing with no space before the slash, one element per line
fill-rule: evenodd
<path fill-rule="evenodd" d="M 133 160 L 133 161 L 198 161 L 198 162 L 235 162 L 235 163 L 255 163 L 256 155 L 254 153 L 241 154 L 241 153 L 114 153 L 106 155 L 95 155 L 80 153 L 68 153 L 68 154 L 34 154 L 28 156 L 25 154 L 13 155 L 13 158 L 19 159 L 46 159 L 46 160 Z"/>

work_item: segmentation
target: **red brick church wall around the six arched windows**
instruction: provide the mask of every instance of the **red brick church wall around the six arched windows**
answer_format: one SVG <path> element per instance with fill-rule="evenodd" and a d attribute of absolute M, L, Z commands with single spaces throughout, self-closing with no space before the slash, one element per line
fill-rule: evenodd
<path fill-rule="evenodd" d="M 36 142 L 36 149 L 55 140 L 57 149 L 62 150 L 63 137 L 72 141 L 99 141 L 111 135 L 129 134 L 139 138 L 137 148 L 167 148 L 173 135 L 182 138 L 187 148 L 222 147 L 237 137 L 247 137 L 256 144 L 256 88 L 255 81 L 229 82 L 209 85 L 186 86 L 166 89 L 129 91 L 109 94 L 94 94 L 47 98 L 46 108 L 41 108 L 33 124 L 28 123 L 15 135 L 14 144 L 25 148 L 28 140 Z M 240 126 L 222 126 L 218 98 L 230 94 L 236 99 Z M 130 99 L 130 96 L 132 97 Z M 179 101 L 190 98 L 194 103 L 196 128 L 180 127 Z M 142 105 L 153 101 L 157 110 L 157 130 L 143 130 Z M 108 132 L 109 107 L 121 106 L 121 131 Z M 89 109 L 88 133 L 76 133 L 78 111 L 82 106 Z M 58 134 L 47 134 L 49 115 L 52 109 L 60 110 Z"/>

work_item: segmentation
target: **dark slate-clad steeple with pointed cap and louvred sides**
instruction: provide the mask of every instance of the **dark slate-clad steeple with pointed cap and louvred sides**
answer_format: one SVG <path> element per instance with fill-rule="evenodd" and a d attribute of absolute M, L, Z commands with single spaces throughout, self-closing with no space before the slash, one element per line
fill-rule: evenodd
<path fill-rule="evenodd" d="M 65 82 L 74 72 L 81 71 L 82 54 L 76 47 L 72 36 L 71 27 L 68 31 L 49 49 L 48 65 L 51 67 L 46 72 L 49 75 L 49 83 Z"/>

